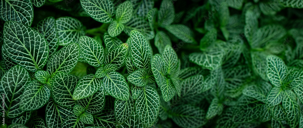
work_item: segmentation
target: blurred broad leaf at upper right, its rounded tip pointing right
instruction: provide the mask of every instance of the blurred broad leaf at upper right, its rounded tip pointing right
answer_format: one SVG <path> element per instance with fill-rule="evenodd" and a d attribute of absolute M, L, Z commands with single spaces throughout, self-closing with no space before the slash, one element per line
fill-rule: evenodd
<path fill-rule="evenodd" d="M 286 30 L 280 25 L 266 25 L 259 28 L 252 36 L 251 47 L 263 47 L 268 42 L 277 42 L 286 35 Z"/>

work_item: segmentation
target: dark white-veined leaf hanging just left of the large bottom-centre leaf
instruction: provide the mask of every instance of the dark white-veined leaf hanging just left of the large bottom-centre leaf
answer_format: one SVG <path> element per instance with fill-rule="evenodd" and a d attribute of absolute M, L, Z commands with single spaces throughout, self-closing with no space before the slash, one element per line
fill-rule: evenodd
<path fill-rule="evenodd" d="M 115 99 L 115 119 L 116 124 L 123 124 L 132 115 L 133 100 L 129 97 L 127 101 Z"/>

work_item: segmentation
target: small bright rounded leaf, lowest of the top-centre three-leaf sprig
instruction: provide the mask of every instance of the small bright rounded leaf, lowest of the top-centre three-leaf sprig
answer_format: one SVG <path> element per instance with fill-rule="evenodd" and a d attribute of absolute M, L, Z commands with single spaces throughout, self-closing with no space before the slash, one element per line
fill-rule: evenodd
<path fill-rule="evenodd" d="M 123 30 L 124 30 L 124 25 L 122 23 L 119 23 L 118 21 L 114 20 L 108 26 L 107 32 L 111 37 L 116 37 L 119 34 L 121 34 Z"/>

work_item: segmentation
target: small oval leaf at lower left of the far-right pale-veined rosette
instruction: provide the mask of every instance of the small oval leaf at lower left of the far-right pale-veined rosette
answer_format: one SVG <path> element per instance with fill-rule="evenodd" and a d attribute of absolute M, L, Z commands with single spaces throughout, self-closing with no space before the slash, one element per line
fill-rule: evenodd
<path fill-rule="evenodd" d="M 267 102 L 269 107 L 280 104 L 283 98 L 283 91 L 280 87 L 273 87 L 267 96 Z"/>

